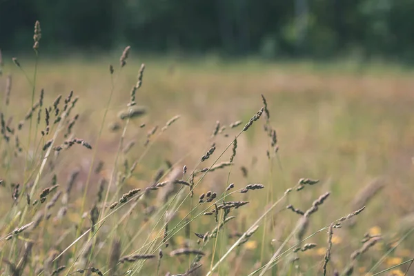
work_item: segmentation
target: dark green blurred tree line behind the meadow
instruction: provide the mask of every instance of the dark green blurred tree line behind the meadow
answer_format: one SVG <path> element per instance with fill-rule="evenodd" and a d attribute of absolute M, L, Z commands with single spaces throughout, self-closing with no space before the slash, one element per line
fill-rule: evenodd
<path fill-rule="evenodd" d="M 0 48 L 414 61 L 413 0 L 0 0 Z"/>

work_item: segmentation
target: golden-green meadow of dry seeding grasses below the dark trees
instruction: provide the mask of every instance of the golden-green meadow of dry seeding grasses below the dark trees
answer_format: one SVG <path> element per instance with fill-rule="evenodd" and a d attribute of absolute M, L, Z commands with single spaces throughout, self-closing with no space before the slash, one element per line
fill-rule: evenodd
<path fill-rule="evenodd" d="M 85 273 L 322 275 L 324 265 L 326 275 L 414 275 L 408 270 L 414 255 L 413 72 L 386 65 L 157 59 L 133 51 L 119 68 L 118 59 L 40 58 L 37 70 L 33 59 L 19 60 L 20 67 L 5 59 L 3 275 L 71 275 L 91 267 L 100 272 Z M 119 119 L 141 63 L 146 68 L 135 101 L 146 112 Z M 42 88 L 38 123 L 39 106 L 32 117 L 26 114 Z M 68 106 L 79 101 L 65 117 L 70 91 Z M 270 117 L 264 110 L 242 131 L 264 106 L 261 95 Z M 42 136 L 49 106 L 50 131 Z M 242 124 L 230 128 L 235 121 Z M 92 149 L 81 140 L 63 144 L 72 138 Z M 213 143 L 214 152 L 201 162 Z M 223 168 L 213 170 L 217 164 Z M 302 178 L 319 182 L 299 184 Z M 241 193 L 248 184 L 264 188 Z M 208 191 L 217 197 L 199 203 Z M 248 204 L 228 208 L 239 201 Z M 364 206 L 342 227 L 333 224 Z M 203 215 L 208 212 L 213 215 Z M 203 240 L 194 233 L 207 234 Z"/>

